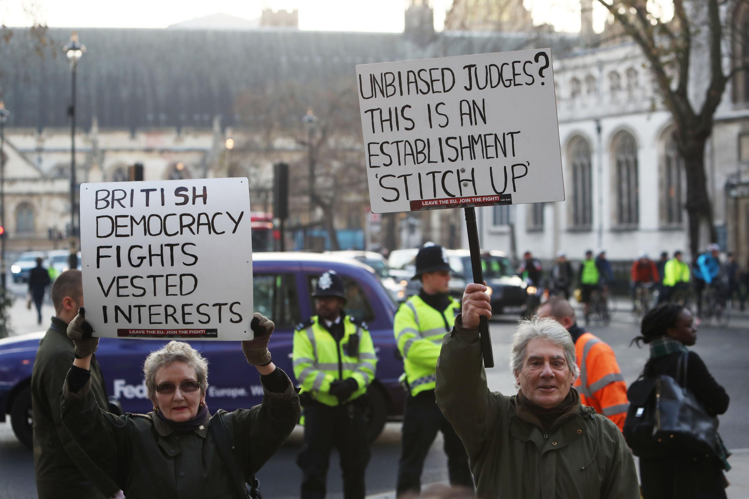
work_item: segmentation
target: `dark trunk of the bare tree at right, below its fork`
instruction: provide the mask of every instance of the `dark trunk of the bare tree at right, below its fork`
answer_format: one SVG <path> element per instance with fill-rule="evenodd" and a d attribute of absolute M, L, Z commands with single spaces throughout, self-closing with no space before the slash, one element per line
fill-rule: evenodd
<path fill-rule="evenodd" d="M 705 174 L 706 138 L 688 138 L 686 143 L 679 144 L 687 177 L 687 215 L 689 250 L 692 260 L 697 259 L 700 248 L 707 242 L 716 242 L 718 234 L 712 219 L 712 202 L 707 192 Z M 706 227 L 709 241 L 700 241 L 702 228 Z"/>

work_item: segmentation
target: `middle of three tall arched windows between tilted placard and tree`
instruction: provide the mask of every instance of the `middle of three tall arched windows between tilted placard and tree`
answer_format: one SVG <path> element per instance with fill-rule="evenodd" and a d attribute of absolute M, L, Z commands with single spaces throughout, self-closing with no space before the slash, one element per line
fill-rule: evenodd
<path fill-rule="evenodd" d="M 616 189 L 616 223 L 637 225 L 640 221 L 637 183 L 637 142 L 628 132 L 620 132 L 613 142 L 613 182 Z"/>

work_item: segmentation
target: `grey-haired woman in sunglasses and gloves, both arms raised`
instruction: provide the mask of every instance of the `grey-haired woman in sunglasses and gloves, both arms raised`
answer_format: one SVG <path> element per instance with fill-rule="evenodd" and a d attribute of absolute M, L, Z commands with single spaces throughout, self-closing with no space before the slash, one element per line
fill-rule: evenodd
<path fill-rule="evenodd" d="M 189 344 L 170 341 L 143 367 L 154 411 L 115 416 L 102 411 L 91 392 L 88 367 L 99 338 L 91 337 L 83 308 L 70 322 L 76 359 L 62 388 L 62 421 L 128 499 L 254 497 L 255 473 L 294 429 L 300 407 L 294 385 L 267 349 L 273 322 L 255 313 L 250 327 L 255 337 L 243 341 L 242 350 L 261 374 L 261 405 L 211 417 L 207 361 Z"/>

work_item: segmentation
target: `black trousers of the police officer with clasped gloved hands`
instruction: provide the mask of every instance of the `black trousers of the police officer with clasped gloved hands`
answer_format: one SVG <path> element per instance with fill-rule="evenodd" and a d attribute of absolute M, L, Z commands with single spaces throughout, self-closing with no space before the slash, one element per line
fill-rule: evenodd
<path fill-rule="evenodd" d="M 304 444 L 297 457 L 303 473 L 301 499 L 325 497 L 330 449 L 334 446 L 341 460 L 343 497 L 364 499 L 369 444 L 363 404 L 357 400 L 336 407 L 320 402 L 305 406 Z"/>

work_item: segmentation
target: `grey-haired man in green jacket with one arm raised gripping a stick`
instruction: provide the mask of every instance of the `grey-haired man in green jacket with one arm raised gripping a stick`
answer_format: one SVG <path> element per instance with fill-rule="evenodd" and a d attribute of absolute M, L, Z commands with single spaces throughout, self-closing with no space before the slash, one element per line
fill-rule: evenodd
<path fill-rule="evenodd" d="M 466 288 L 437 365 L 437 404 L 466 446 L 477 497 L 640 499 L 622 432 L 572 388 L 574 344 L 559 322 L 522 321 L 510 353 L 520 390 L 489 391 L 479 342 L 479 319 L 491 318 L 486 290 Z"/>

